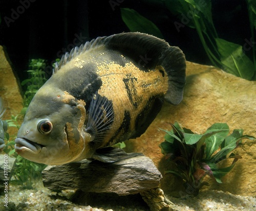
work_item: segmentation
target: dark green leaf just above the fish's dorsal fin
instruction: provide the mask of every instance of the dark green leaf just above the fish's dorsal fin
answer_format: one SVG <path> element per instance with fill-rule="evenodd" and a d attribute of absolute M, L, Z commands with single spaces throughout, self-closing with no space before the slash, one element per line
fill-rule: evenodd
<path fill-rule="evenodd" d="M 135 10 L 121 8 L 121 15 L 123 22 L 127 25 L 131 32 L 142 32 L 163 39 L 163 35 L 157 26 Z"/>

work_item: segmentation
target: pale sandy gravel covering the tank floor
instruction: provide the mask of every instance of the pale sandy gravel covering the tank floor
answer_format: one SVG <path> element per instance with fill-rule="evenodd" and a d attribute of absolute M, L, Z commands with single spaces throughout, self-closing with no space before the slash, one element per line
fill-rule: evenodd
<path fill-rule="evenodd" d="M 115 204 L 101 205 L 100 207 L 82 206 L 70 202 L 65 197 L 69 197 L 71 192 L 63 192 L 65 197 L 56 197 L 55 192 L 41 187 L 38 190 L 22 190 L 21 187 L 10 186 L 8 190 L 8 208 L 4 206 L 4 196 L 1 196 L 0 210 L 68 210 L 68 211 L 147 211 L 145 206 L 134 207 L 131 201 L 130 206 L 120 206 Z M 199 196 L 188 199 L 178 199 L 168 197 L 177 207 L 182 210 L 256 210 L 256 198 L 247 196 L 232 195 L 222 191 L 200 192 Z M 111 207 L 110 207 L 111 206 Z"/>

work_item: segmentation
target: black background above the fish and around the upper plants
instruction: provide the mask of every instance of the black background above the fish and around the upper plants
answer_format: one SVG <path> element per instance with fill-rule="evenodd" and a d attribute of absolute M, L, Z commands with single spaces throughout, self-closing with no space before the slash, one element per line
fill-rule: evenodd
<path fill-rule="evenodd" d="M 46 59 L 50 64 L 75 45 L 98 36 L 129 32 L 120 8 L 131 8 L 153 21 L 164 39 L 179 46 L 188 61 L 210 65 L 196 30 L 185 25 L 178 32 L 174 22 L 180 20 L 166 9 L 164 2 L 0 0 L 0 45 L 5 47 L 12 67 L 23 81 L 29 59 Z M 213 0 L 212 16 L 220 38 L 242 45 L 250 37 L 245 0 Z"/>

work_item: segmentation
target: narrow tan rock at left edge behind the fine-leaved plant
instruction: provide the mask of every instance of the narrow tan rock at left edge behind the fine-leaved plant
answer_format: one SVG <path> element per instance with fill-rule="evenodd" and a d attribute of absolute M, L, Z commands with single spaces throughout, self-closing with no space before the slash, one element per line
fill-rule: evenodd
<path fill-rule="evenodd" d="M 20 95 L 18 82 L 13 70 L 6 59 L 3 46 L 0 45 L 0 97 L 4 99 L 6 112 L 3 120 L 11 119 L 11 115 L 16 116 L 23 108 L 23 98 Z M 9 128 L 9 134 L 17 133 L 17 129 Z"/>

